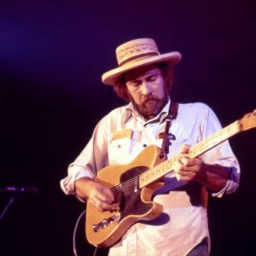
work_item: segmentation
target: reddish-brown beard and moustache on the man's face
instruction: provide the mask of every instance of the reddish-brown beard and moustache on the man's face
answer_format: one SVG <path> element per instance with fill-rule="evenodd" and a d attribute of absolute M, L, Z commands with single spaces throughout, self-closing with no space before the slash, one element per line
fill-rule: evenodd
<path fill-rule="evenodd" d="M 150 95 L 143 96 L 143 102 L 139 105 L 134 102 L 132 97 L 131 102 L 134 108 L 136 108 L 137 112 L 140 113 L 144 119 L 152 119 L 166 106 L 168 99 L 169 96 L 167 93 L 165 93 L 161 99 Z"/>

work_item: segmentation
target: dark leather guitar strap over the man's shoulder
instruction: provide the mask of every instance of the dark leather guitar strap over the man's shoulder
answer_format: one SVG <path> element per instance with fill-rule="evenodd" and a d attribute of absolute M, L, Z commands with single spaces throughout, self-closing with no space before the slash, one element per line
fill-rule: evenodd
<path fill-rule="evenodd" d="M 173 119 L 177 118 L 177 109 L 178 109 L 178 103 L 177 102 L 171 102 L 170 108 L 166 117 L 166 128 L 165 131 L 161 134 L 163 138 L 162 146 L 160 149 L 160 158 L 166 157 L 166 155 L 169 153 L 169 146 L 171 145 L 170 140 L 175 140 L 175 136 L 169 132 L 171 127 L 171 122 Z"/>

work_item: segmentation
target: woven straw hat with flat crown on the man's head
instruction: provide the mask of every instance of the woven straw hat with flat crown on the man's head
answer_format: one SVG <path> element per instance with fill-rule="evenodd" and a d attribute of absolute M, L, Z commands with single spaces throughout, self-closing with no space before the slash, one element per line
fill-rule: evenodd
<path fill-rule="evenodd" d="M 181 60 L 182 55 L 177 51 L 161 55 L 153 39 L 138 38 L 119 45 L 116 57 L 119 67 L 102 74 L 104 84 L 113 85 L 121 74 L 137 67 L 158 62 L 166 62 L 172 67 Z"/>

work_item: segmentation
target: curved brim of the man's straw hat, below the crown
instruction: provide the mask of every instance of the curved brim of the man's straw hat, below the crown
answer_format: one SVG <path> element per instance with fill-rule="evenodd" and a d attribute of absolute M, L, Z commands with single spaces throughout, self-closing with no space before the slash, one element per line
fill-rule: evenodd
<path fill-rule="evenodd" d="M 102 83 L 113 85 L 119 76 L 123 73 L 131 71 L 137 67 L 143 67 L 149 64 L 154 64 L 158 62 L 166 62 L 170 66 L 174 66 L 180 61 L 182 55 L 178 51 L 172 51 L 170 53 L 155 55 L 144 59 L 139 59 L 137 61 L 130 61 L 124 66 L 114 68 L 106 73 L 102 74 Z"/>

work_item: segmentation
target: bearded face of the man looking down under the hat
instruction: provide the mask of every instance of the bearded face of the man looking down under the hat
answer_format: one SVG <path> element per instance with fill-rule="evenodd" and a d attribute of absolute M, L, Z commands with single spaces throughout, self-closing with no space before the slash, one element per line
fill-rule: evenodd
<path fill-rule="evenodd" d="M 131 102 L 145 119 L 154 118 L 168 101 L 166 82 L 159 67 L 141 67 L 125 74 Z"/>

